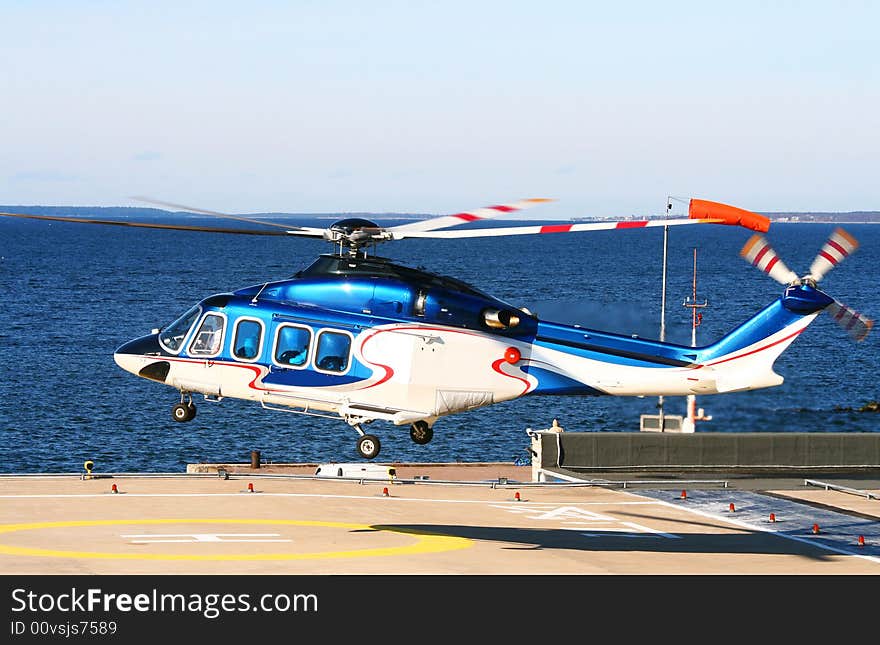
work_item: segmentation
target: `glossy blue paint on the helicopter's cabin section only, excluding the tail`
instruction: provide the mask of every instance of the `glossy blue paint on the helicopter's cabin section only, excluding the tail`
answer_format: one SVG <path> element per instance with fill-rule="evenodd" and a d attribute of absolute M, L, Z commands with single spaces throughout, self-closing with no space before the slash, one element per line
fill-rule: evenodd
<path fill-rule="evenodd" d="M 411 323 L 420 326 L 467 329 L 492 336 L 531 342 L 537 319 L 510 304 L 486 295 L 470 285 L 394 265 L 381 258 L 321 256 L 315 264 L 287 280 L 253 285 L 233 293 L 215 294 L 199 303 L 198 320 L 210 313 L 225 317 L 223 344 L 210 357 L 191 352 L 199 325 L 193 324 L 177 353 L 163 347 L 150 335 L 117 349 L 121 354 L 160 354 L 180 359 L 239 362 L 268 366 L 266 385 L 322 387 L 344 385 L 369 378 L 374 368 L 356 355 L 341 373 L 321 370 L 315 360 L 290 367 L 279 364 L 274 351 L 279 327 L 307 328 L 312 345 L 323 331 L 350 334 L 352 338 L 380 325 Z M 486 324 L 487 311 L 507 311 L 518 323 L 508 328 Z M 241 320 L 256 320 L 263 334 L 256 354 L 242 361 L 235 355 L 235 328 Z"/>

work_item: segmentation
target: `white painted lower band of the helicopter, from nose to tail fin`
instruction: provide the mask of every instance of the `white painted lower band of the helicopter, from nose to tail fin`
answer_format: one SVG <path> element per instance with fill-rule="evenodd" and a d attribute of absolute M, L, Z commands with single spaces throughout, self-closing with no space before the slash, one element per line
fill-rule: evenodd
<path fill-rule="evenodd" d="M 773 362 L 812 322 L 804 316 L 775 334 L 696 367 L 642 367 L 577 356 L 497 335 L 441 326 L 395 324 L 355 337 L 354 357 L 370 366 L 368 379 L 328 386 L 265 383 L 269 367 L 254 362 L 116 354 L 123 369 L 138 374 L 168 361 L 165 383 L 186 392 L 263 404 L 384 419 L 395 424 L 436 418 L 531 392 L 537 379 L 528 364 L 616 396 L 685 396 L 769 387 L 782 383 Z M 515 348 L 521 358 L 505 360 Z"/>

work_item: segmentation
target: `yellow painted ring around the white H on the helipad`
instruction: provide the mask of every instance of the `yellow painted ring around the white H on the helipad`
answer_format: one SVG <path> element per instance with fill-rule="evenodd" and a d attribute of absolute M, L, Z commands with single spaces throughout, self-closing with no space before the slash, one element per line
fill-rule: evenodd
<path fill-rule="evenodd" d="M 0 555 L 27 555 L 51 558 L 97 558 L 102 560 L 319 560 L 326 558 L 364 558 L 389 555 L 440 553 L 466 549 L 473 545 L 467 538 L 437 535 L 413 529 L 391 526 L 369 526 L 345 522 L 314 522 L 308 520 L 241 520 L 241 519 L 147 519 L 147 520 L 72 520 L 67 522 L 35 522 L 30 524 L 0 524 L 0 534 L 41 529 L 80 528 L 89 526 L 119 526 L 131 524 L 260 524 L 284 526 L 318 526 L 356 531 L 385 531 L 415 536 L 408 546 L 352 549 L 348 551 L 319 551 L 314 553 L 240 553 L 225 555 L 191 555 L 183 553 L 103 553 L 97 551 L 58 551 L 0 544 Z"/>

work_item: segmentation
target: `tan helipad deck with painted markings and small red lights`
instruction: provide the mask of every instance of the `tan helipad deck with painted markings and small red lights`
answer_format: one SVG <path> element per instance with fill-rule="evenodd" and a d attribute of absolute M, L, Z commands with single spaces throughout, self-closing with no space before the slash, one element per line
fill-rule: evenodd
<path fill-rule="evenodd" d="M 0 573 L 880 574 L 876 483 L 308 470 L 0 477 Z"/>

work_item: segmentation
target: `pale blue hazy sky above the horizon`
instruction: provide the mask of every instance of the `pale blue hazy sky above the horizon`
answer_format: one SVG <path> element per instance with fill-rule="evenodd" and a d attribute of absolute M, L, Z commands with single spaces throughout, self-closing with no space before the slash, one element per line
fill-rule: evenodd
<path fill-rule="evenodd" d="M 877 2 L 0 0 L 0 203 L 878 210 Z"/>

